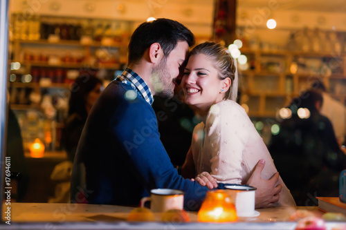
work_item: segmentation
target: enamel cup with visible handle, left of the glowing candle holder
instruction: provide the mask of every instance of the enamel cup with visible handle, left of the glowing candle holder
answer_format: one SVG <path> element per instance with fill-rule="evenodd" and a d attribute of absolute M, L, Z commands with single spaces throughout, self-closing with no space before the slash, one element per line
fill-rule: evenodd
<path fill-rule="evenodd" d="M 170 209 L 183 210 L 184 192 L 177 189 L 152 189 L 150 197 L 140 200 L 140 207 L 150 201 L 150 209 L 155 213 L 162 213 Z"/>

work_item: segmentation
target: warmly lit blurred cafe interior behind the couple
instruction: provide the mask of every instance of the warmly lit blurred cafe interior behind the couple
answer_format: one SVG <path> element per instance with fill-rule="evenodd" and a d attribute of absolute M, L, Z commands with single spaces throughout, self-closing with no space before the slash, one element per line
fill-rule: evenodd
<path fill-rule="evenodd" d="M 149 17 L 183 23 L 197 44 L 235 44 L 230 53 L 239 64 L 239 104 L 268 144 L 285 115 L 280 108 L 313 79 L 346 104 L 345 12 L 340 0 L 11 0 L 8 101 L 24 146 L 17 164 L 28 175 L 20 201 L 66 202 L 70 178 L 61 140 L 73 81 L 93 73 L 107 86 L 126 66 L 131 32 Z M 171 112 L 191 135 L 193 116 Z M 181 162 L 188 149 L 174 146 L 190 140 L 175 131 L 166 135 L 176 138 L 167 151 Z"/>

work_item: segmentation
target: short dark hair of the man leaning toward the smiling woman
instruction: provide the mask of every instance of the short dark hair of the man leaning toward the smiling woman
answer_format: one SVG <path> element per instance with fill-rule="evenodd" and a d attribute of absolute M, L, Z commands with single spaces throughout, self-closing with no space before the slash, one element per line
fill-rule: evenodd
<path fill-rule="evenodd" d="M 156 19 L 142 23 L 129 42 L 129 64 L 137 64 L 145 50 L 156 42 L 160 44 L 165 57 L 168 57 L 178 41 L 186 41 L 190 47 L 194 45 L 194 35 L 178 21 Z"/>

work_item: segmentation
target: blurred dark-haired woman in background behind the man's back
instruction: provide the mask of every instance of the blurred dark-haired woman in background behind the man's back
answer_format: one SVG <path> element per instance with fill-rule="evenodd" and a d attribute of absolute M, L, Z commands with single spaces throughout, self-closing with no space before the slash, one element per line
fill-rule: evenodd
<path fill-rule="evenodd" d="M 69 160 L 73 162 L 75 151 L 86 117 L 101 94 L 102 81 L 98 77 L 80 75 L 73 84 L 69 100 L 69 113 L 64 132 L 64 146 Z"/>

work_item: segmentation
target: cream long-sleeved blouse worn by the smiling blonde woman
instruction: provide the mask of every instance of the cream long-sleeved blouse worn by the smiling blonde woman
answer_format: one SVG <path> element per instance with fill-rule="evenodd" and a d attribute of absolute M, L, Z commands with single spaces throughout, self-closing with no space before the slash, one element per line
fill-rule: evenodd
<path fill-rule="evenodd" d="M 246 184 L 260 159 L 266 161 L 263 179 L 277 172 L 262 137 L 244 111 L 234 101 L 213 105 L 206 125 L 197 124 L 192 136 L 192 155 L 197 174 L 207 171 L 217 182 Z M 279 205 L 295 206 L 289 189 L 282 184 Z"/>

